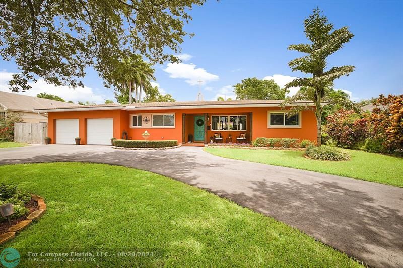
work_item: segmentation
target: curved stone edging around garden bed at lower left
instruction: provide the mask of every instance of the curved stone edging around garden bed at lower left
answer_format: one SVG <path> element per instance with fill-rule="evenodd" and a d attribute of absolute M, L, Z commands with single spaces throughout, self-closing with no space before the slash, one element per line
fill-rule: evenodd
<path fill-rule="evenodd" d="M 28 227 L 32 221 L 38 221 L 46 211 L 46 204 L 42 197 L 38 195 L 31 195 L 31 198 L 38 203 L 39 209 L 31 212 L 27 219 L 20 221 L 16 225 L 10 226 L 7 233 L 0 235 L 0 245 L 7 241 L 14 239 L 16 233 Z"/>

